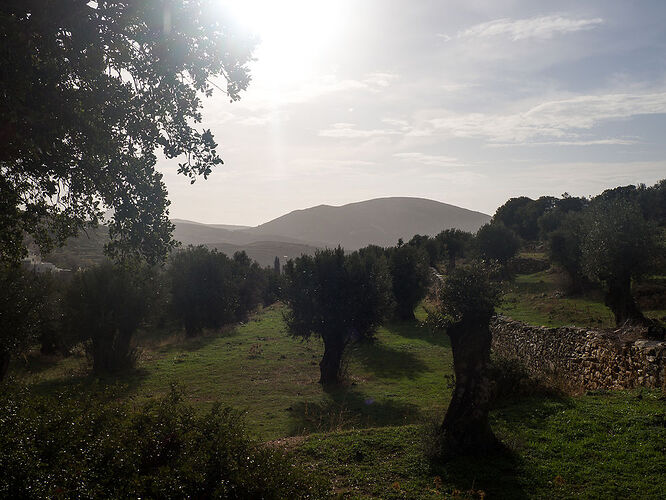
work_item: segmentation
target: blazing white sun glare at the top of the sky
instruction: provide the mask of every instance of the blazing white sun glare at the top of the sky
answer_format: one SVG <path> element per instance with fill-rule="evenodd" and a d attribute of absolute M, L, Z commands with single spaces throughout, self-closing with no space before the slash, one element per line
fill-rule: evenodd
<path fill-rule="evenodd" d="M 324 52 L 343 41 L 349 10 L 341 0 L 220 0 L 259 37 L 255 79 L 293 85 L 312 76 Z"/>

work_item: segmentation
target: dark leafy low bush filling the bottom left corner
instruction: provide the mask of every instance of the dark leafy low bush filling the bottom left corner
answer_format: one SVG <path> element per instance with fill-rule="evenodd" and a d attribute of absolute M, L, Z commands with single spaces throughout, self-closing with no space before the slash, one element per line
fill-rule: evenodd
<path fill-rule="evenodd" d="M 327 486 L 246 437 L 233 410 L 179 394 L 133 409 L 101 394 L 0 393 L 2 498 L 321 498 Z"/>

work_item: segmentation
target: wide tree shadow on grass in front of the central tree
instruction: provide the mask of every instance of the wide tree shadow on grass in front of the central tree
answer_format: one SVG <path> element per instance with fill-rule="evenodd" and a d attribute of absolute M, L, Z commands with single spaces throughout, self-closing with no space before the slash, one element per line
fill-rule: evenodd
<path fill-rule="evenodd" d="M 289 434 L 331 432 L 419 422 L 418 406 L 402 401 L 375 401 L 345 388 L 328 391 L 320 401 L 301 401 L 288 409 Z"/>

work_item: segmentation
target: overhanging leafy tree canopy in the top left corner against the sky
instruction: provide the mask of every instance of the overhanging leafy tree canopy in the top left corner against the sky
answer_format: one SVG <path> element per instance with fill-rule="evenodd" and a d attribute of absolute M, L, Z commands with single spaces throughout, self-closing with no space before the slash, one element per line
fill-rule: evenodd
<path fill-rule="evenodd" d="M 239 99 L 253 40 L 212 0 L 0 6 L 0 259 L 49 249 L 111 209 L 107 252 L 173 243 L 156 152 L 191 182 L 222 163 L 201 97 Z M 215 83 L 214 78 L 221 76 Z"/>

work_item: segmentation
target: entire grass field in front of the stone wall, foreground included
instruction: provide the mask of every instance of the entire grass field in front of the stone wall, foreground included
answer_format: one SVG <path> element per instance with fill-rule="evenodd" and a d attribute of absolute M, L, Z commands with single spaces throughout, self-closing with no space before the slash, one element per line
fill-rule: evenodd
<path fill-rule="evenodd" d="M 324 474 L 345 498 L 660 498 L 666 484 L 666 400 L 658 391 L 530 397 L 492 413 L 502 455 L 433 465 L 429 429 L 450 398 L 445 336 L 389 324 L 348 356 L 345 387 L 317 384 L 322 345 L 287 336 L 282 306 L 197 340 L 144 337 L 139 366 L 115 381 L 83 357 L 13 366 L 38 391 L 122 387 L 140 404 L 176 383 L 196 407 L 246 412 L 248 429 Z M 424 311 L 419 309 L 422 319 Z M 26 365 L 27 361 L 27 365 Z"/>

